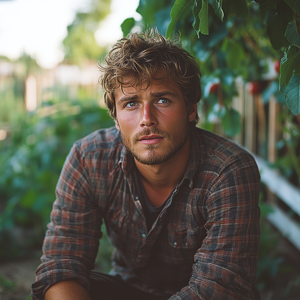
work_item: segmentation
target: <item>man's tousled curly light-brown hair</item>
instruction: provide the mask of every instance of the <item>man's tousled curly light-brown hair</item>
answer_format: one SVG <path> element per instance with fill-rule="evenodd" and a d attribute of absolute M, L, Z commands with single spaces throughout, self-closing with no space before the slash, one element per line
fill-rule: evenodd
<path fill-rule="evenodd" d="M 110 115 L 116 119 L 114 91 L 124 86 L 137 87 L 139 83 L 147 83 L 148 88 L 153 79 L 166 80 L 168 76 L 179 84 L 186 100 L 187 111 L 201 99 L 201 73 L 194 58 L 179 46 L 179 38 L 165 39 L 157 30 L 145 33 L 133 33 L 122 38 L 113 45 L 113 49 L 105 57 L 106 65 L 99 65 L 104 73 L 99 82 L 105 90 L 104 100 Z M 155 72 L 161 70 L 162 76 L 155 78 Z M 191 123 L 195 126 L 198 114 Z"/>

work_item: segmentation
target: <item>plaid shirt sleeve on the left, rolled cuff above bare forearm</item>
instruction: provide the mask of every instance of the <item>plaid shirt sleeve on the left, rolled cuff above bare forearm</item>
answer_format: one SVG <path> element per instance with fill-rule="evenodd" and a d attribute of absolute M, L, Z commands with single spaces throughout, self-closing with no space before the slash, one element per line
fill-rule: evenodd
<path fill-rule="evenodd" d="M 44 299 L 55 283 L 75 279 L 89 291 L 101 233 L 101 214 L 91 193 L 85 157 L 74 144 L 56 186 L 51 222 L 43 244 L 42 264 L 32 284 L 32 299 Z"/>

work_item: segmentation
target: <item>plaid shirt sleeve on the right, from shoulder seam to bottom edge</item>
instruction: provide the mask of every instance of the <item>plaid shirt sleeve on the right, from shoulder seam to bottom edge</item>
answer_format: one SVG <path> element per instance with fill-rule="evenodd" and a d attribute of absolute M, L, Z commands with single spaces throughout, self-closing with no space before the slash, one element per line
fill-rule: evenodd
<path fill-rule="evenodd" d="M 203 205 L 207 236 L 188 286 L 169 300 L 249 299 L 259 250 L 259 172 L 246 154 L 227 164 Z"/>

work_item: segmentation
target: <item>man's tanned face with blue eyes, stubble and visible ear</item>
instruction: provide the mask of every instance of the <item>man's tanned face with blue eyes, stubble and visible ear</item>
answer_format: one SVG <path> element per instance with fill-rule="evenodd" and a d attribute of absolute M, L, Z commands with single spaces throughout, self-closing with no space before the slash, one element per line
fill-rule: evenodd
<path fill-rule="evenodd" d="M 189 122 L 196 116 L 196 104 L 187 113 L 178 84 L 170 79 L 154 80 L 137 87 L 123 86 L 115 92 L 116 127 L 134 158 L 146 165 L 162 164 L 175 155 L 190 134 Z"/>

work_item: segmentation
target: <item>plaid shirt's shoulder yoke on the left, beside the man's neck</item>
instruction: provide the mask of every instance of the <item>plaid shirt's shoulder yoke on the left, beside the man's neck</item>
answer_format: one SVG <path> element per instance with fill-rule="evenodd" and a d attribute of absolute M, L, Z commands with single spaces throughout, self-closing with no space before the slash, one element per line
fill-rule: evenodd
<path fill-rule="evenodd" d="M 86 137 L 76 141 L 76 148 L 80 152 L 99 152 L 105 150 L 113 150 L 116 148 L 122 148 L 121 133 L 115 126 L 110 128 L 98 129 Z"/>

